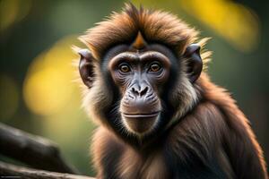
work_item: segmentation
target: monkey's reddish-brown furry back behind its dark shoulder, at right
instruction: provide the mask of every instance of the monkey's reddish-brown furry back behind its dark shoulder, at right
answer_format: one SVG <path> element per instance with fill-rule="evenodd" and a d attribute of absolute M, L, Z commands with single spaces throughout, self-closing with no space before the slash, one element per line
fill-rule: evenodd
<path fill-rule="evenodd" d="M 221 132 L 221 145 L 236 177 L 268 178 L 262 149 L 236 101 L 229 92 L 214 85 L 206 74 L 202 74 L 198 82 L 203 89 L 204 101 L 211 103 L 215 112 L 221 114 L 219 117 L 213 115 L 212 122 L 221 124 L 215 131 Z"/>

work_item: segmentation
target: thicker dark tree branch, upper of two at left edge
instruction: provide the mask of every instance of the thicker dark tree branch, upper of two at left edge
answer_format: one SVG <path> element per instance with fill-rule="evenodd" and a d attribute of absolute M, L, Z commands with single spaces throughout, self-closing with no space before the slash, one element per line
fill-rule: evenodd
<path fill-rule="evenodd" d="M 54 142 L 5 124 L 0 124 L 0 153 L 38 169 L 78 173 L 61 157 Z"/>

